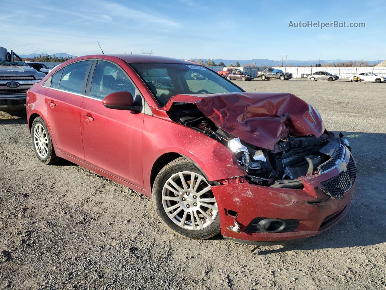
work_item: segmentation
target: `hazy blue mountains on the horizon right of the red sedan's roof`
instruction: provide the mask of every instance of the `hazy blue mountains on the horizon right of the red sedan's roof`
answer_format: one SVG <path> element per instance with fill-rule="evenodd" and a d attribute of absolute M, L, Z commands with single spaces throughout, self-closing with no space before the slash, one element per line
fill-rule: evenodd
<path fill-rule="evenodd" d="M 203 61 L 203 63 L 205 63 L 205 61 L 207 61 L 206 58 L 196 58 L 196 59 L 193 59 L 193 61 L 197 61 L 201 59 Z M 278 67 L 278 66 L 281 66 L 281 60 L 267 60 L 265 58 L 257 58 L 257 59 L 253 59 L 253 60 L 222 60 L 222 59 L 216 59 L 216 60 L 213 60 L 215 63 L 219 63 L 220 61 L 222 61 L 223 63 L 225 63 L 225 65 L 229 65 L 229 64 L 233 64 L 235 65 L 236 64 L 236 61 L 239 61 L 240 65 L 243 66 L 243 65 L 248 65 L 248 64 L 254 64 L 255 61 L 256 61 L 256 66 L 257 67 Z M 350 61 L 350 60 L 287 60 L 287 65 L 291 64 L 293 67 L 296 67 L 296 66 L 310 66 L 310 65 L 315 65 L 317 63 L 320 63 L 323 65 L 323 63 L 336 63 L 336 62 L 346 62 L 346 61 Z M 372 65 L 372 64 L 376 64 L 378 65 L 378 63 L 381 63 L 383 60 L 369 60 L 368 63 L 369 65 Z M 285 64 L 285 60 L 283 61 L 283 65 Z"/>

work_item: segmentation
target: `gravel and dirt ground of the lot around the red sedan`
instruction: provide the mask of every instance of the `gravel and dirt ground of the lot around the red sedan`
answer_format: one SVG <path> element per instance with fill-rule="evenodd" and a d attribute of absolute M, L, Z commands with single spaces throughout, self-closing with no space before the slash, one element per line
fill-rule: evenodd
<path fill-rule="evenodd" d="M 386 289 L 386 84 L 236 81 L 291 92 L 342 131 L 358 164 L 348 215 L 292 246 L 169 232 L 151 200 L 34 156 L 25 114 L 0 112 L 0 289 Z"/>

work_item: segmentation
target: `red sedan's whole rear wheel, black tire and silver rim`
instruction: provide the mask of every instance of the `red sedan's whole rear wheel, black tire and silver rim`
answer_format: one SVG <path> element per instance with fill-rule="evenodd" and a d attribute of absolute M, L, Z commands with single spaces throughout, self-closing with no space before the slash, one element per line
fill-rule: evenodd
<path fill-rule="evenodd" d="M 36 117 L 32 122 L 31 139 L 37 159 L 47 165 L 58 161 L 46 123 L 41 117 Z"/>

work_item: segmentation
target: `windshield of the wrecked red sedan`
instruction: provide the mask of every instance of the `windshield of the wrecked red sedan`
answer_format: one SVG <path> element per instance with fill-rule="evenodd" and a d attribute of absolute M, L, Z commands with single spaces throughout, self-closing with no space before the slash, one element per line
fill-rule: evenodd
<path fill-rule="evenodd" d="M 201 65 L 177 63 L 130 63 L 157 101 L 165 106 L 179 94 L 242 92 L 231 82 Z M 199 76 L 199 77 L 197 77 Z"/>

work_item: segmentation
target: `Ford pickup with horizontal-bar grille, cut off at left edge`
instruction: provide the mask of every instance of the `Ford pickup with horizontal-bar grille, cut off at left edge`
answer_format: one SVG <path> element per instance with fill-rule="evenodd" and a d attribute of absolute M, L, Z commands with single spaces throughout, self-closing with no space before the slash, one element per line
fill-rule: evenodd
<path fill-rule="evenodd" d="M 14 51 L 0 47 L 0 110 L 24 107 L 27 90 L 45 76 L 29 67 Z"/>

